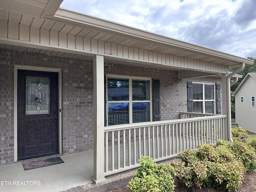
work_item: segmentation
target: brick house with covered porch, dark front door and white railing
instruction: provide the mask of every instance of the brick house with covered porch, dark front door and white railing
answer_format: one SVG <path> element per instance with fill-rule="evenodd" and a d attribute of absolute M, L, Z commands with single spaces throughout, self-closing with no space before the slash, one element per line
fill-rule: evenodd
<path fill-rule="evenodd" d="M 0 0 L 1 165 L 94 150 L 98 183 L 141 154 L 230 140 L 228 68 L 252 60 L 61 2 Z"/>

